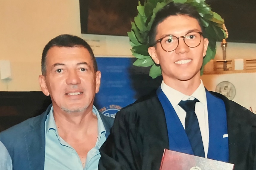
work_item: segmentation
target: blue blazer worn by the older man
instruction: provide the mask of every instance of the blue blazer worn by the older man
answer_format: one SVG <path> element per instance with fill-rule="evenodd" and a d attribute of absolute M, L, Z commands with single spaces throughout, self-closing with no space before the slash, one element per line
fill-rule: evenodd
<path fill-rule="evenodd" d="M 7 148 L 14 170 L 44 170 L 45 120 L 52 105 L 39 116 L 30 118 L 0 133 L 0 141 Z M 106 137 L 114 119 L 100 114 Z"/>

